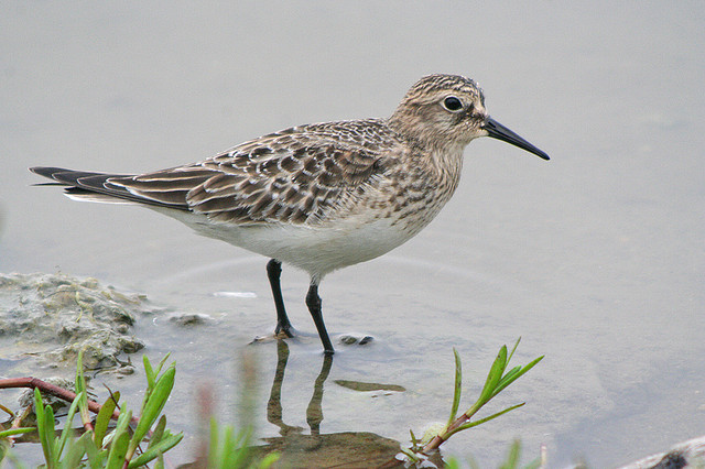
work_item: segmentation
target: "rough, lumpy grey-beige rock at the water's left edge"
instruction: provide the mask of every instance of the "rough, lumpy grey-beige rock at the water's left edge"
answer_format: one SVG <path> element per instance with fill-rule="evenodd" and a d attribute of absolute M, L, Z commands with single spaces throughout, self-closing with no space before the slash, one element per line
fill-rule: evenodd
<path fill-rule="evenodd" d="M 127 295 L 95 279 L 64 274 L 0 274 L 0 348 L 6 359 L 41 366 L 119 369 L 118 356 L 144 347 L 131 332 L 145 312 L 143 295 Z"/>

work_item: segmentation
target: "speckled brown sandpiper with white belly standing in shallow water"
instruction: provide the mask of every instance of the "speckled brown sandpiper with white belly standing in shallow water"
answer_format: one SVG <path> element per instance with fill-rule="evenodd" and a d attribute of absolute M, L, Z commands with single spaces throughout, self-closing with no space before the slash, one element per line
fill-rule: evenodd
<path fill-rule="evenodd" d="M 291 127 L 196 163 L 144 174 L 35 166 L 75 199 L 149 206 L 269 258 L 278 337 L 293 337 L 282 263 L 308 273 L 305 303 L 323 351 L 335 349 L 318 294 L 338 269 L 414 237 L 455 193 L 470 141 L 490 137 L 549 155 L 492 119 L 479 85 L 462 75 L 422 77 L 386 119 Z"/>

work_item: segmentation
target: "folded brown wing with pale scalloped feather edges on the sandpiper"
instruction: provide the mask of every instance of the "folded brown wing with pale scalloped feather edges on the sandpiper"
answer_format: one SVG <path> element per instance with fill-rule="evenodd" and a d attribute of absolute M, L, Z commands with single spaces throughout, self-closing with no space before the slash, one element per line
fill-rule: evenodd
<path fill-rule="evenodd" d="M 199 163 L 110 178 L 106 185 L 170 206 L 183 204 L 215 221 L 315 225 L 334 210 L 345 215 L 340 208 L 354 205 L 386 171 L 386 145 L 361 144 L 369 135 L 356 129 L 355 122 L 292 128 Z"/>

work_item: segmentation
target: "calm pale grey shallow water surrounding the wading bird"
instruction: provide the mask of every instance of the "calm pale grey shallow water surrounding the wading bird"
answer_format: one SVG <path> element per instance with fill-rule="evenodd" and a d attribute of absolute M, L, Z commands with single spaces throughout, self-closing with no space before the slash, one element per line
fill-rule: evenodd
<path fill-rule="evenodd" d="M 497 349 L 518 336 L 519 361 L 546 359 L 501 403 L 528 404 L 457 435 L 446 454 L 492 466 L 520 437 L 527 460 L 545 444 L 551 467 L 581 456 L 609 467 L 705 433 L 699 3 L 170 7 L 3 8 L 0 272 L 93 276 L 209 315 L 193 328 L 138 324 L 150 357 L 177 361 L 174 426 L 195 421 L 181 406 L 196 382 L 234 394 L 239 351 L 272 329 L 265 260 L 151 210 L 31 187 L 40 179 L 26 167 L 173 166 L 295 123 L 389 116 L 421 75 L 445 72 L 479 80 L 492 117 L 552 161 L 473 142 L 460 187 L 427 229 L 325 280 L 328 329 L 376 340 L 338 347 L 321 433 L 405 441 L 410 427 L 446 418 L 453 347 L 466 392 L 477 392 Z M 313 332 L 306 284 L 284 268 L 294 326 Z M 260 434 L 276 436 L 264 411 L 276 346 L 250 348 Z M 290 342 L 289 425 L 308 428 L 318 350 L 315 337 Z M 406 391 L 361 393 L 335 380 Z"/>

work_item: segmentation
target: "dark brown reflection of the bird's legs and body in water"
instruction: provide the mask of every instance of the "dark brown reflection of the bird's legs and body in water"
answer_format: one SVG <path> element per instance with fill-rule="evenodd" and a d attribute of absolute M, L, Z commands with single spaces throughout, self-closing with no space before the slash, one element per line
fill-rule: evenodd
<path fill-rule="evenodd" d="M 267 404 L 267 419 L 280 428 L 281 437 L 264 438 L 268 445 L 252 448 L 258 456 L 276 450 L 281 452 L 276 466 L 307 468 L 379 467 L 393 459 L 394 455 L 399 452 L 400 445 L 393 439 L 367 432 L 321 434 L 323 390 L 333 367 L 332 355 L 323 356 L 321 371 L 313 383 L 313 394 L 306 407 L 306 423 L 311 434 L 304 435 L 303 428 L 285 424 L 282 417 L 282 383 L 289 360 L 289 346 L 284 340 L 278 341 L 276 355 L 276 371 Z M 403 391 L 403 388 L 394 385 L 352 381 L 344 381 L 344 383 L 348 389 L 369 390 L 373 388 Z"/>

